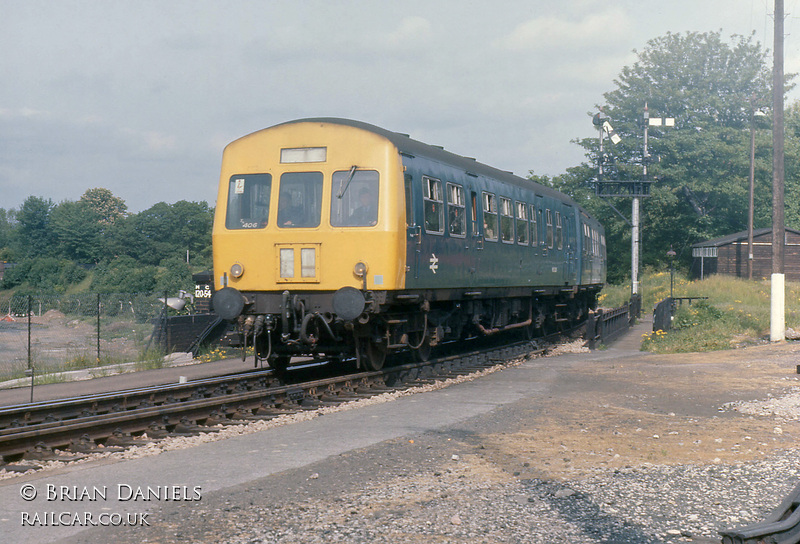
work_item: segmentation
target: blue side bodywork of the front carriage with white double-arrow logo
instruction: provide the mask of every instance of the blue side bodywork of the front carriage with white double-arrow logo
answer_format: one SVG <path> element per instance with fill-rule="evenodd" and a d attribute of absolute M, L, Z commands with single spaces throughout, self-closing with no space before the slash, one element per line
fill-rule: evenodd
<path fill-rule="evenodd" d="M 588 215 L 565 195 L 533 182 L 507 181 L 476 174 L 469 170 L 420 156 L 403 157 L 406 176 L 408 270 L 407 289 L 477 288 L 477 287 L 550 287 L 563 288 L 582 285 L 583 281 L 602 283 L 601 278 L 585 277 L 592 267 L 584 257 L 585 244 L 581 221 Z M 466 213 L 466 232 L 453 235 L 448 228 L 442 232 L 426 228 L 425 186 L 432 178 L 445 191 L 441 205 L 449 206 L 449 184 L 463 188 Z M 487 236 L 484 227 L 485 194 L 496 202 L 507 199 L 515 217 L 511 222 L 511 239 L 502 234 Z M 517 207 L 524 206 L 528 217 L 518 221 Z M 535 226 L 531 216 L 535 211 Z M 552 242 L 548 243 L 547 215 L 551 218 Z M 555 220 L 558 214 L 561 228 L 557 235 Z M 498 210 L 498 219 L 504 219 Z M 583 219 L 581 219 L 583 218 Z M 508 218 L 506 219 L 508 221 Z M 445 224 L 447 225 L 445 213 Z M 525 225 L 527 224 L 527 227 Z M 508 225 L 507 225 L 508 226 Z M 517 227 L 530 229 L 526 240 L 518 239 Z M 595 227 L 596 228 L 596 227 Z M 535 230 L 534 230 L 535 229 Z M 498 229 L 498 231 L 501 228 Z M 534 243 L 535 237 L 535 243 Z M 508 236 L 506 237 L 508 238 Z M 560 238 L 560 244 L 558 243 Z"/>

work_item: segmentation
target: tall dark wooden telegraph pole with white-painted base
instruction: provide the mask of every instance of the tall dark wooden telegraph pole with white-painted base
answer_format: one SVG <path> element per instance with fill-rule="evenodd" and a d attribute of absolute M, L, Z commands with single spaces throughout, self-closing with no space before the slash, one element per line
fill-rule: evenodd
<path fill-rule="evenodd" d="M 786 339 L 784 276 L 783 163 L 783 0 L 775 0 L 775 53 L 772 69 L 772 278 L 770 333 L 772 342 Z"/>

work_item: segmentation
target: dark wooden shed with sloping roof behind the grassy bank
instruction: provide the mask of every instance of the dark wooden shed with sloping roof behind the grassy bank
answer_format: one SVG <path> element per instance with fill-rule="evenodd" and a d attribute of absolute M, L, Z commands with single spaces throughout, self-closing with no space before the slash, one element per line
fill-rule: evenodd
<path fill-rule="evenodd" d="M 800 281 L 800 231 L 786 229 L 786 281 Z M 692 245 L 692 278 L 725 274 L 747 278 L 747 231 Z M 753 279 L 772 275 L 772 229 L 753 231 Z"/>

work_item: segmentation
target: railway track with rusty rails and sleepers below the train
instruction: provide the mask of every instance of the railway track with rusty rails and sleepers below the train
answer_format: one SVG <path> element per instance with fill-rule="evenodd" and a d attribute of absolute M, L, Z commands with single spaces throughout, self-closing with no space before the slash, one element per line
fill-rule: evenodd
<path fill-rule="evenodd" d="M 302 380 L 291 371 L 279 380 L 261 370 L 191 381 L 0 408 L 0 468 L 36 469 L 120 451 L 168 436 L 215 433 L 225 425 L 368 398 L 387 391 L 469 374 L 546 348 L 532 342 L 478 349 L 381 371 Z M 146 438 L 145 438 L 146 437 Z"/>

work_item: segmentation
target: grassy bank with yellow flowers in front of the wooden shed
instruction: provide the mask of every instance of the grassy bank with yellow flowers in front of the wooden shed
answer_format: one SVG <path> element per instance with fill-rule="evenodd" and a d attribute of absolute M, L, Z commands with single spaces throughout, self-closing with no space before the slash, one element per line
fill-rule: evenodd
<path fill-rule="evenodd" d="M 678 307 L 669 332 L 654 331 L 642 338 L 642 349 L 655 353 L 714 351 L 769 341 L 770 283 L 730 276 L 689 281 L 676 273 L 675 297 L 708 297 Z M 669 272 L 645 272 L 642 312 L 669 296 Z M 607 286 L 601 306 L 619 306 L 630 297 L 630 285 Z M 800 330 L 800 283 L 786 283 L 786 327 Z"/>

